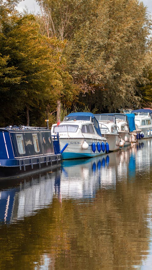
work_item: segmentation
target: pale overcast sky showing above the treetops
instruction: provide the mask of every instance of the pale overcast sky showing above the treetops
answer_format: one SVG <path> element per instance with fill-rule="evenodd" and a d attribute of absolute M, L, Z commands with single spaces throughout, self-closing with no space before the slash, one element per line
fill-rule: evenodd
<path fill-rule="evenodd" d="M 152 14 L 152 0 L 143 0 L 143 3 L 145 6 L 147 6 L 148 11 Z M 18 5 L 18 10 L 22 12 L 23 9 L 25 9 L 25 6 L 27 6 L 28 10 L 31 12 L 37 12 L 39 10 L 35 0 L 25 0 L 20 2 Z"/>

